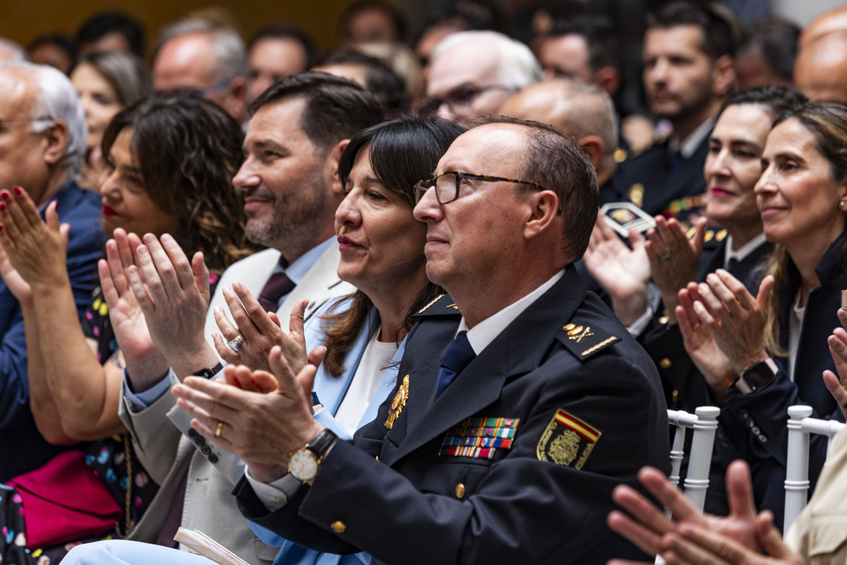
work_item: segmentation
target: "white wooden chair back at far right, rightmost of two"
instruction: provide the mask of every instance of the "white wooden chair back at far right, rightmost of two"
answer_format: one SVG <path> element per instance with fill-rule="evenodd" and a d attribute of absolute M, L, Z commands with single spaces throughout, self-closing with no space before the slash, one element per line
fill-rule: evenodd
<path fill-rule="evenodd" d="M 809 435 L 833 435 L 844 429 L 837 420 L 811 418 L 811 406 L 805 404 L 789 407 L 789 445 L 785 468 L 785 521 L 783 531 L 789 526 L 809 501 Z"/>

